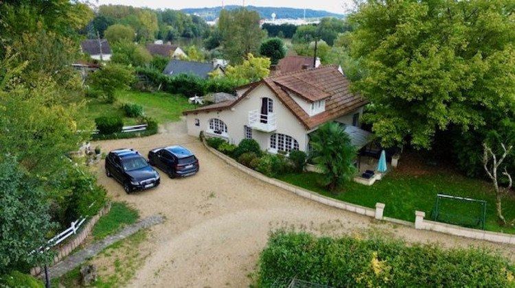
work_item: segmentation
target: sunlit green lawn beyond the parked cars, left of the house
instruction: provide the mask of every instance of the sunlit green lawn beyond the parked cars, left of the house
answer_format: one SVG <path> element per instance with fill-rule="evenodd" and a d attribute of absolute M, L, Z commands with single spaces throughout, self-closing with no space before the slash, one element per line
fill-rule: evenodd
<path fill-rule="evenodd" d="M 94 120 L 96 117 L 106 115 L 119 115 L 124 119 L 124 125 L 135 125 L 137 119 L 125 117 L 122 104 L 132 102 L 144 107 L 146 116 L 156 119 L 159 123 L 179 121 L 184 110 L 194 109 L 193 104 L 187 103 L 183 95 L 170 93 L 150 93 L 138 91 L 118 91 L 117 101 L 107 104 L 100 99 L 90 99 L 87 104 L 87 117 Z"/>

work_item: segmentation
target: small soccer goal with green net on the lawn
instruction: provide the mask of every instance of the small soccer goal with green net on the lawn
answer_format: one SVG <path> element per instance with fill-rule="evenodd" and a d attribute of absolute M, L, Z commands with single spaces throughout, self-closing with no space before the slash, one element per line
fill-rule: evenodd
<path fill-rule="evenodd" d="M 485 218 L 485 200 L 445 194 L 436 195 L 435 208 L 431 211 L 434 221 L 482 230 L 485 230 Z"/>

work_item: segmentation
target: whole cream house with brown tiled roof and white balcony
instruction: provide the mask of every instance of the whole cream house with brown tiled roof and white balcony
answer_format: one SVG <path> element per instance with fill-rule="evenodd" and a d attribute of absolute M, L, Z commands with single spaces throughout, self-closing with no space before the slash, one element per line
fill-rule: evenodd
<path fill-rule="evenodd" d="M 368 103 L 349 91 L 349 81 L 334 65 L 266 77 L 235 89 L 236 100 L 185 111 L 188 134 L 198 136 L 203 131 L 207 137 L 234 144 L 255 139 L 272 153 L 308 152 L 310 133 L 328 121 L 354 125 L 350 137 L 358 136 L 359 119 Z M 353 143 L 358 148 L 366 145 L 360 139 Z"/>

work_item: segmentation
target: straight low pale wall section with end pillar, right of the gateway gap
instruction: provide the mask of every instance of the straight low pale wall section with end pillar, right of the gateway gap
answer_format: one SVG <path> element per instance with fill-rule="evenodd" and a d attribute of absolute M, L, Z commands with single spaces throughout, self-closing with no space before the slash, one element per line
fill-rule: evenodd
<path fill-rule="evenodd" d="M 495 243 L 515 244 L 515 235 L 465 228 L 424 219 L 426 213 L 415 211 L 415 229 L 442 232 L 466 238 L 486 240 Z"/>

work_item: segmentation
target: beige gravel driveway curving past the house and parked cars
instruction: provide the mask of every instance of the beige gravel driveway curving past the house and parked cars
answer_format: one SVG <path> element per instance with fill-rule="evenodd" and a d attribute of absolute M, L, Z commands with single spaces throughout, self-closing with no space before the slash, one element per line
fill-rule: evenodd
<path fill-rule="evenodd" d="M 126 195 L 120 184 L 106 178 L 103 161 L 99 169 L 100 183 L 113 200 L 133 204 L 141 217 L 159 213 L 166 218 L 150 230 L 150 240 L 141 245 L 141 252 L 150 256 L 130 287 L 248 287 L 268 232 L 277 228 L 324 235 L 384 230 L 407 241 L 488 245 L 514 258 L 510 245 L 372 221 L 255 180 L 187 136 L 183 121 L 165 125 L 161 134 L 102 141 L 93 147 L 100 145 L 104 152 L 133 147 L 146 156 L 149 149 L 176 144 L 185 145 L 199 158 L 201 170 L 195 176 L 172 180 L 161 173 L 161 185 L 156 189 Z"/>

